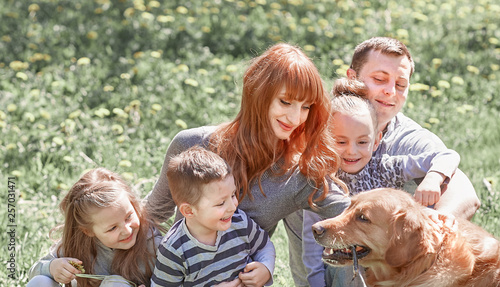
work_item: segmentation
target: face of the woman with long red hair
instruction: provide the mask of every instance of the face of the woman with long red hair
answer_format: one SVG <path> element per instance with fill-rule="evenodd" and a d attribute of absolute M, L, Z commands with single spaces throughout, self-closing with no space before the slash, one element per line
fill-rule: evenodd
<path fill-rule="evenodd" d="M 286 88 L 272 100 L 269 107 L 269 119 L 274 135 L 280 140 L 290 138 L 292 132 L 307 120 L 311 104 L 289 100 Z"/>

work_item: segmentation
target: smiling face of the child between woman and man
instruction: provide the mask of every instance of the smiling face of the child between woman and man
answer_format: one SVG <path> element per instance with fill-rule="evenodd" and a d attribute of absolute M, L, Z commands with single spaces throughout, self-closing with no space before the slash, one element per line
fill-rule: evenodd
<path fill-rule="evenodd" d="M 375 131 L 368 111 L 354 115 L 336 112 L 333 115 L 335 147 L 343 171 L 356 174 L 368 164 L 379 144 L 379 133 Z"/>

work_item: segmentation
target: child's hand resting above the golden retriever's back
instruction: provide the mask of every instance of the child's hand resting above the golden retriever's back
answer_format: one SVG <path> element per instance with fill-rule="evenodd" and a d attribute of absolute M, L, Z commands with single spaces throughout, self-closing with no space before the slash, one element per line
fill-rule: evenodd
<path fill-rule="evenodd" d="M 415 200 L 423 206 L 436 204 L 441 198 L 441 184 L 445 178 L 439 172 L 428 172 L 415 190 Z"/>

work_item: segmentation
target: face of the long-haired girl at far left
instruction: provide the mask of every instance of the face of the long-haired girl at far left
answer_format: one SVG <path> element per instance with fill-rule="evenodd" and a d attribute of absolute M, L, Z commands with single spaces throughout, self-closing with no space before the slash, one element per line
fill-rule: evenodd
<path fill-rule="evenodd" d="M 89 236 L 97 237 L 105 246 L 125 250 L 134 246 L 141 223 L 125 191 L 115 206 L 93 208 L 90 219 L 93 226 Z"/>

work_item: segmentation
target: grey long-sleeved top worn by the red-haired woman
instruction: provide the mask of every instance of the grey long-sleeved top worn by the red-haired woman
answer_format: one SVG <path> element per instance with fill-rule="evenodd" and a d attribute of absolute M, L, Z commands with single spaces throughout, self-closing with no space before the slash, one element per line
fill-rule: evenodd
<path fill-rule="evenodd" d="M 207 147 L 210 135 L 215 129 L 215 126 L 205 126 L 183 130 L 172 139 L 160 177 L 153 190 L 145 198 L 146 208 L 153 218 L 163 222 L 175 211 L 175 203 L 172 200 L 166 176 L 170 159 L 194 145 Z M 258 184 L 254 183 L 250 187 L 253 200 L 246 196 L 239 205 L 240 209 L 244 210 L 267 232 L 271 232 L 281 219 L 294 211 L 310 209 L 307 199 L 315 189 L 314 183 L 298 169 L 295 169 L 292 174 L 284 175 L 277 175 L 273 169 L 278 169 L 278 167 L 274 165 L 265 171 L 261 178 L 265 196 L 260 192 Z M 328 196 L 318 203 L 319 208 L 315 210 L 323 218 L 339 215 L 350 204 L 350 199 L 331 179 L 328 179 L 328 185 Z"/>

